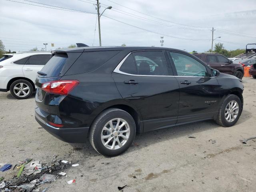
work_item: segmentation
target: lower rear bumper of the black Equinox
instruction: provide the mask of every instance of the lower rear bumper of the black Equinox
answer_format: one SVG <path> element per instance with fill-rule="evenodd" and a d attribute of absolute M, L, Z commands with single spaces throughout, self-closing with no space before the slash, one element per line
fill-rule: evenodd
<path fill-rule="evenodd" d="M 68 143 L 85 143 L 87 139 L 87 134 L 89 132 L 89 127 L 81 128 L 56 128 L 47 123 L 46 117 L 48 113 L 40 110 L 40 108 L 35 109 L 36 121 L 48 131 L 50 134 L 56 138 L 68 142 Z"/>

